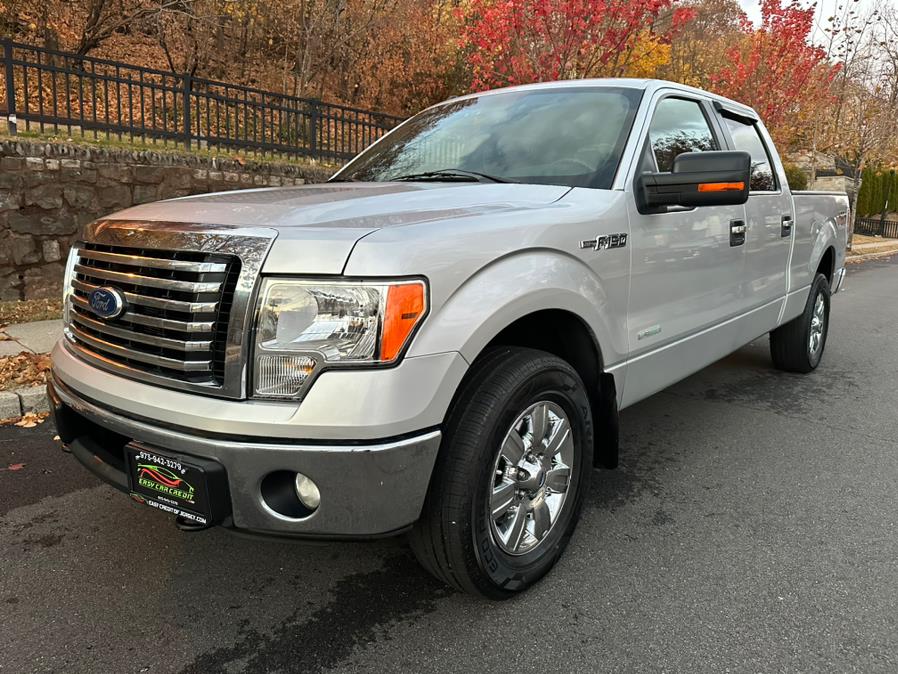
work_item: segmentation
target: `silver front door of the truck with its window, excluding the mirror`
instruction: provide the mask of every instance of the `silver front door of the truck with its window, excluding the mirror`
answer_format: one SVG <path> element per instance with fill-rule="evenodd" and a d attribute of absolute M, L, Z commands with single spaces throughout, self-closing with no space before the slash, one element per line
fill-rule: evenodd
<path fill-rule="evenodd" d="M 639 171 L 670 171 L 678 154 L 723 149 L 722 130 L 707 100 L 680 93 L 656 96 L 643 132 Z M 710 332 L 746 309 L 745 247 L 738 235 L 743 206 L 672 207 L 643 214 L 634 195 L 629 196 L 632 275 L 625 405 L 729 353 L 732 339 Z"/>

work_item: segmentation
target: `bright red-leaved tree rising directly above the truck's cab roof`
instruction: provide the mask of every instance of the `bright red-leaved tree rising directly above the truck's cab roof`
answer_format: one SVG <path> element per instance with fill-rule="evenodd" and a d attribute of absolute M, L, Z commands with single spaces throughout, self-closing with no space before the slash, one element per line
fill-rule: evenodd
<path fill-rule="evenodd" d="M 471 0 L 461 45 L 473 88 L 631 74 L 688 19 L 675 2 Z"/>

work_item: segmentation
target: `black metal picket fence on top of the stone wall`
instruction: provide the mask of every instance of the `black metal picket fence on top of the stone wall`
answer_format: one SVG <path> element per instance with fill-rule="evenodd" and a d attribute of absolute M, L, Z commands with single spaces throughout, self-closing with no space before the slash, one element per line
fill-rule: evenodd
<path fill-rule="evenodd" d="M 9 133 L 343 161 L 401 117 L 3 40 Z M 0 105 L 2 108 L 2 105 Z"/>

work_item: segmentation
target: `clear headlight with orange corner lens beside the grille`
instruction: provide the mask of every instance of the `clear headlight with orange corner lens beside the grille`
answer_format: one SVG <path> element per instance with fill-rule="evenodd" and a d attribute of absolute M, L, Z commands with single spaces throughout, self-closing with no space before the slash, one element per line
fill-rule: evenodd
<path fill-rule="evenodd" d="M 294 397 L 318 369 L 391 363 L 426 312 L 420 280 L 266 279 L 256 325 L 255 394 Z"/>

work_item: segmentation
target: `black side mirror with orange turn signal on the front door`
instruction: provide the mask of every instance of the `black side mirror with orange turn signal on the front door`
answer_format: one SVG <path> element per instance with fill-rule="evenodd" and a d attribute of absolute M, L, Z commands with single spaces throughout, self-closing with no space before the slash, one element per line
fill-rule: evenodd
<path fill-rule="evenodd" d="M 665 206 L 738 206 L 748 201 L 748 152 L 684 152 L 670 173 L 643 173 L 636 179 L 640 212 Z"/>

